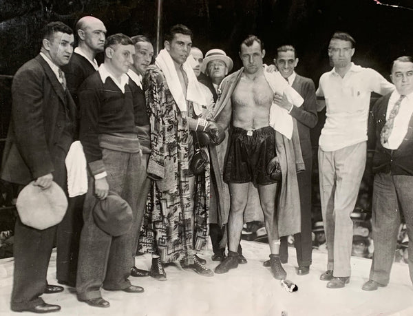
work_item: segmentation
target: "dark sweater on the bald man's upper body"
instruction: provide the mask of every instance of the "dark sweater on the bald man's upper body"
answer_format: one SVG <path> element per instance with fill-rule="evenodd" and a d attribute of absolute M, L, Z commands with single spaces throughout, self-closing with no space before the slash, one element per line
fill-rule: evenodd
<path fill-rule="evenodd" d="M 96 70 L 85 57 L 76 53 L 73 53 L 70 62 L 61 68 L 65 72 L 67 89 L 69 89 L 73 101 L 78 107 L 78 89 L 85 78 L 94 74 Z"/>

